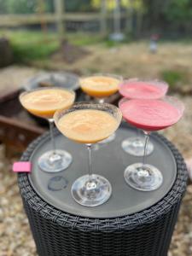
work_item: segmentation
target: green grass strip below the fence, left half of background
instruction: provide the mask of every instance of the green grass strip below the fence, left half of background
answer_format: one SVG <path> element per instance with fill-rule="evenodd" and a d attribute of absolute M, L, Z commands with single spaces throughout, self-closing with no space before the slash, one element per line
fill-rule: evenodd
<path fill-rule="evenodd" d="M 32 32 L 26 30 L 0 31 L 0 37 L 9 38 L 15 62 L 45 60 L 60 47 L 57 34 L 54 32 Z M 67 39 L 77 46 L 96 44 L 101 38 L 95 34 L 68 33 Z"/>

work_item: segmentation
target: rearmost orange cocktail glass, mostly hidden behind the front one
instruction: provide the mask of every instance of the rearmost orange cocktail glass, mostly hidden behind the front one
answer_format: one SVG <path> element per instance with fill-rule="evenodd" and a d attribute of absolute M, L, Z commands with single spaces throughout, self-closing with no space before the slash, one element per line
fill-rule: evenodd
<path fill-rule="evenodd" d="M 80 79 L 80 86 L 87 95 L 94 97 L 96 102 L 104 103 L 108 96 L 112 96 L 119 90 L 119 84 L 122 80 L 123 78 L 119 75 L 96 73 Z M 115 133 L 100 143 L 110 143 L 114 138 Z"/>

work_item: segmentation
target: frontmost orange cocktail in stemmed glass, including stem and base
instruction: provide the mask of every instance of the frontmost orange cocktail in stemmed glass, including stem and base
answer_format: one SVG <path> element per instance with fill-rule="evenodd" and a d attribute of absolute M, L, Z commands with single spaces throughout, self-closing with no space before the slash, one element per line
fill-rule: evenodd
<path fill-rule="evenodd" d="M 108 201 L 112 188 L 108 179 L 91 171 L 91 149 L 109 137 L 119 127 L 122 114 L 119 108 L 108 104 L 81 102 L 67 110 L 55 113 L 55 125 L 61 133 L 77 143 L 84 143 L 89 155 L 88 175 L 79 177 L 72 185 L 73 199 L 80 205 L 96 207 Z"/>

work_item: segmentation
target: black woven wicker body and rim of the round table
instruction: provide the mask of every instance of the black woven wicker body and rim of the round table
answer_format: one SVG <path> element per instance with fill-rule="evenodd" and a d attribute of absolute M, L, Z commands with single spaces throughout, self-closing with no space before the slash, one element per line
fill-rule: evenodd
<path fill-rule="evenodd" d="M 55 131 L 55 135 L 58 135 L 58 131 Z M 58 137 L 61 137 L 61 135 Z M 186 189 L 187 172 L 182 155 L 178 153 L 172 143 L 168 142 L 165 137 L 158 134 L 153 134 L 152 137 L 154 143 L 161 143 L 162 147 L 170 150 L 172 158 L 176 163 L 176 176 L 172 182 L 172 187 L 165 192 L 166 194 L 164 196 L 158 198 L 158 191 L 154 192 L 154 194 L 150 194 L 151 192 L 149 192 L 148 197 L 151 197 L 149 201 L 150 207 L 146 208 L 143 207 L 141 203 L 136 203 L 137 206 L 132 208 L 137 209 L 136 212 L 131 210 L 131 207 L 127 206 L 127 209 L 124 209 L 125 213 L 123 214 L 120 212 L 121 205 L 115 206 L 113 204 L 112 208 L 114 208 L 114 211 L 112 211 L 113 209 L 110 208 L 110 203 L 115 200 L 115 196 L 112 196 L 106 206 L 103 205 L 99 210 L 95 207 L 95 211 L 94 207 L 90 210 L 90 208 L 87 207 L 79 207 L 78 204 L 76 206 L 75 202 L 70 201 L 71 199 L 67 202 L 64 194 L 63 203 L 59 200 L 56 202 L 54 197 L 51 196 L 53 195 L 56 198 L 57 195 L 55 194 L 57 192 L 54 194 L 53 191 L 50 191 L 47 193 L 48 197 L 46 198 L 43 189 L 39 192 L 37 189 L 38 187 L 34 187 L 34 178 L 38 179 L 38 175 L 35 177 L 30 177 L 26 173 L 20 173 L 18 175 L 20 194 L 27 218 L 29 219 L 32 235 L 37 245 L 38 255 L 167 255 L 172 232 L 177 221 L 180 203 Z M 44 147 L 44 141 L 49 143 L 48 134 L 38 137 L 37 140 L 30 144 L 26 152 L 22 155 L 21 160 L 32 160 L 37 148 Z M 108 150 L 108 148 L 105 150 Z M 126 157 L 129 158 L 128 154 Z M 134 160 L 137 160 L 137 158 Z M 151 156 L 151 160 L 153 160 L 153 156 Z M 37 167 L 35 166 L 35 168 Z M 168 166 L 168 169 L 169 168 L 171 169 L 171 166 Z M 67 177 L 67 175 L 69 175 L 67 174 L 67 171 L 64 171 L 63 177 Z M 123 173 L 119 173 L 118 176 L 120 175 L 123 176 Z M 79 176 L 80 174 L 77 174 L 77 177 Z M 41 177 L 41 172 L 39 172 L 39 177 Z M 44 176 L 42 180 L 46 180 L 46 177 Z M 41 185 L 41 183 L 42 187 L 44 187 L 44 181 L 40 181 L 39 184 Z M 67 184 L 67 186 L 69 185 L 71 186 L 71 182 Z M 127 185 L 123 184 L 122 186 Z M 126 188 L 130 189 L 129 193 L 126 195 L 126 198 L 128 198 L 127 201 L 129 202 L 129 195 L 131 198 L 131 195 L 137 194 L 137 191 L 134 189 L 131 190 L 128 186 L 125 187 L 125 189 Z M 39 190 L 40 189 L 41 188 L 39 187 Z M 67 192 L 65 193 L 67 194 Z M 113 195 L 117 195 L 117 193 L 114 184 Z M 140 195 L 145 196 L 146 194 Z M 139 196 L 137 197 L 138 201 Z M 68 197 L 70 196 L 68 195 Z M 51 203 L 52 201 L 53 203 Z M 122 204 L 124 201 L 127 203 L 125 198 L 122 198 Z M 70 208 L 70 206 L 73 207 Z M 108 207 L 109 209 L 107 212 L 108 216 L 105 216 L 105 214 L 107 214 L 105 212 L 105 207 Z M 115 210 L 115 208 L 118 207 L 119 209 Z M 117 216 L 113 216 L 115 211 L 117 212 Z M 100 216 L 99 214 L 101 214 L 101 217 L 102 214 L 104 214 L 103 216 L 105 217 L 96 217 Z"/>

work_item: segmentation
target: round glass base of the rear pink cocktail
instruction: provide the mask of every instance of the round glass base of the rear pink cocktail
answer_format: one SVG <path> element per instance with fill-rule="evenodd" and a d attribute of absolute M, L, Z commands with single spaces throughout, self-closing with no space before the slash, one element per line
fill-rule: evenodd
<path fill-rule="evenodd" d="M 129 137 L 125 139 L 121 143 L 121 148 L 128 154 L 135 155 L 135 156 L 143 156 L 144 154 L 144 145 L 145 145 L 145 138 L 144 137 Z M 151 154 L 154 151 L 154 145 L 150 141 L 148 141 L 148 148 L 147 153 Z"/>

